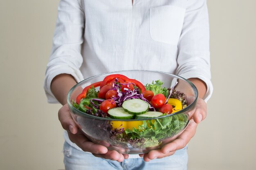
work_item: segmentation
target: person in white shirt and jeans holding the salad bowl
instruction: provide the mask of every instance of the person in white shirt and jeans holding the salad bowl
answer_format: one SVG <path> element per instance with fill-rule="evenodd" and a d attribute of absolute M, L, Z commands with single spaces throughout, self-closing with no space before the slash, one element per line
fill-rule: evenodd
<path fill-rule="evenodd" d="M 45 73 L 49 103 L 61 103 L 64 164 L 78 169 L 186 169 L 189 140 L 211 97 L 206 0 L 60 0 Z M 111 71 L 164 71 L 189 79 L 199 98 L 182 134 L 159 150 L 120 154 L 87 139 L 73 121 L 67 93 L 85 78 Z"/>

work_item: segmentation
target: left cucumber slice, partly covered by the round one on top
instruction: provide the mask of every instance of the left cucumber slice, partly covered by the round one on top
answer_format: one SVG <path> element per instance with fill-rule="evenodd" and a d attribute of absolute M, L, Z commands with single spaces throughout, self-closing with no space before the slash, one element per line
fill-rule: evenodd
<path fill-rule="evenodd" d="M 108 110 L 108 114 L 112 119 L 133 119 L 134 115 L 129 114 L 122 107 L 112 108 Z"/>

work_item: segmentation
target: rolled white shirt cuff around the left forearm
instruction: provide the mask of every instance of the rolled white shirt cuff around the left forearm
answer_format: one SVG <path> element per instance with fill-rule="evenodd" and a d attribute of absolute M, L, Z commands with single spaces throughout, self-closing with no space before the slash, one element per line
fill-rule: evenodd
<path fill-rule="evenodd" d="M 78 69 L 67 67 L 65 65 L 64 66 L 58 65 L 58 66 L 51 67 L 49 70 L 47 70 L 45 74 L 45 82 L 44 82 L 44 89 L 45 89 L 45 94 L 46 94 L 48 103 L 59 104 L 58 100 L 54 97 L 51 91 L 52 79 L 59 74 L 70 74 L 74 77 L 76 82 L 81 82 L 84 79 L 81 71 Z"/>

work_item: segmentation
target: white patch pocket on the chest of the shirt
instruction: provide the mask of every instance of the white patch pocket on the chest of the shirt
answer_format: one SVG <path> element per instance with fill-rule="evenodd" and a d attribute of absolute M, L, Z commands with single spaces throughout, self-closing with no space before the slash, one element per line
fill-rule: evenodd
<path fill-rule="evenodd" d="M 177 45 L 185 9 L 175 6 L 154 7 L 149 11 L 150 36 L 153 40 Z"/>

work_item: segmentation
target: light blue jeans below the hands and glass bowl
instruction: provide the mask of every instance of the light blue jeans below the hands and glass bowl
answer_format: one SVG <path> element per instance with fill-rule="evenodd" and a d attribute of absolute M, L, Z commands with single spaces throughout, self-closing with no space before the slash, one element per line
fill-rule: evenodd
<path fill-rule="evenodd" d="M 65 142 L 63 147 L 66 170 L 186 170 L 187 146 L 174 155 L 145 162 L 143 158 L 125 159 L 123 162 L 94 157 L 91 153 L 77 150 Z"/>

